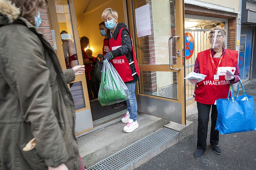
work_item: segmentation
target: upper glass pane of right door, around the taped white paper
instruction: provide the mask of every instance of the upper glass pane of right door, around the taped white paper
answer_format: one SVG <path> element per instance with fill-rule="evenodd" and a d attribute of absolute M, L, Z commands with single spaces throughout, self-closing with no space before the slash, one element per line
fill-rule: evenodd
<path fill-rule="evenodd" d="M 175 2 L 166 0 L 134 0 L 134 9 L 149 3 L 151 35 L 136 38 L 140 64 L 168 64 L 169 38 L 176 35 Z M 137 36 L 136 36 L 137 37 Z M 176 39 L 172 39 L 172 64 L 177 64 Z"/>

